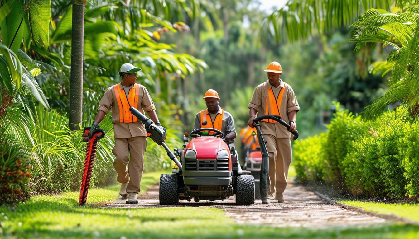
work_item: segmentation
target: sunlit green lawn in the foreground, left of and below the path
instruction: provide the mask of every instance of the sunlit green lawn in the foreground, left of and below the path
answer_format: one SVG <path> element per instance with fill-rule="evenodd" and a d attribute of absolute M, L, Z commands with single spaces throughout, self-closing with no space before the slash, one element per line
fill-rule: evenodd
<path fill-rule="evenodd" d="M 143 175 L 142 192 L 160 173 Z M 89 191 L 88 203 L 114 200 L 119 185 Z M 238 225 L 222 209 L 205 207 L 98 208 L 78 206 L 78 192 L 35 196 L 0 207 L 0 238 L 418 238 L 419 226 L 327 230 Z"/>

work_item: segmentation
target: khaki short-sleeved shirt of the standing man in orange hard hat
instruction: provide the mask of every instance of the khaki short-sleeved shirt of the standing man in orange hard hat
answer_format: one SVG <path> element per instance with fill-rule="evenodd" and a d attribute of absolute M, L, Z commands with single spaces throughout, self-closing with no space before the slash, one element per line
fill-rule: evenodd
<path fill-rule="evenodd" d="M 278 87 L 273 87 L 269 80 L 258 85 L 253 92 L 252 100 L 250 101 L 248 108 L 254 108 L 257 112 L 257 116 L 264 116 L 266 111 L 266 87 L 269 87 L 269 90 L 273 88 L 275 98 L 278 97 L 281 87 L 285 87 L 284 94 L 282 95 L 281 108 L 279 112 L 281 113 L 282 120 L 285 122 L 290 122 L 288 119 L 288 113 L 292 111 L 298 112 L 300 106 L 298 105 L 297 98 L 295 97 L 294 90 L 292 87 L 285 83 L 283 80 L 279 79 L 280 83 Z M 260 121 L 262 134 L 270 134 L 275 136 L 277 139 L 287 139 L 291 137 L 290 131 L 287 130 L 280 123 L 268 123 Z"/>

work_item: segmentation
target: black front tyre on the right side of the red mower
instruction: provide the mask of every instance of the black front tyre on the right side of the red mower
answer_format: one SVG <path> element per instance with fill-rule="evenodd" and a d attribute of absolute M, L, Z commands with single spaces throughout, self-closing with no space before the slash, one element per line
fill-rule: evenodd
<path fill-rule="evenodd" d="M 237 205 L 251 205 L 255 203 L 255 179 L 252 175 L 238 176 L 236 187 Z"/>

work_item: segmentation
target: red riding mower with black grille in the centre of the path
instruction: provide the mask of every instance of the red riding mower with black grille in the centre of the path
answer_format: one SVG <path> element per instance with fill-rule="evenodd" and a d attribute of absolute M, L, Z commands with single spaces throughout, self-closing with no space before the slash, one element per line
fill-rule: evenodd
<path fill-rule="evenodd" d="M 143 123 L 148 120 L 135 108 L 130 111 Z M 161 142 L 176 166 L 172 173 L 160 176 L 160 205 L 176 205 L 179 200 L 224 200 L 232 195 L 238 205 L 253 204 L 253 176 L 243 174 L 235 149 L 229 146 L 231 141 L 223 141 L 224 134 L 215 128 L 199 128 L 191 137 L 186 144 L 189 140 L 185 134 L 183 149 L 174 149 L 174 154 Z"/>

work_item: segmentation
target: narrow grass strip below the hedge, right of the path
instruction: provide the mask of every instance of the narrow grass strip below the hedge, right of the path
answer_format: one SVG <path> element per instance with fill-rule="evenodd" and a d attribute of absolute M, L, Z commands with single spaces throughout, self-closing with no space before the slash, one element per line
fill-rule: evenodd
<path fill-rule="evenodd" d="M 383 214 L 394 214 L 411 220 L 419 221 L 418 203 L 375 203 L 358 200 L 339 200 L 339 203 L 361 207 L 367 211 Z"/>

